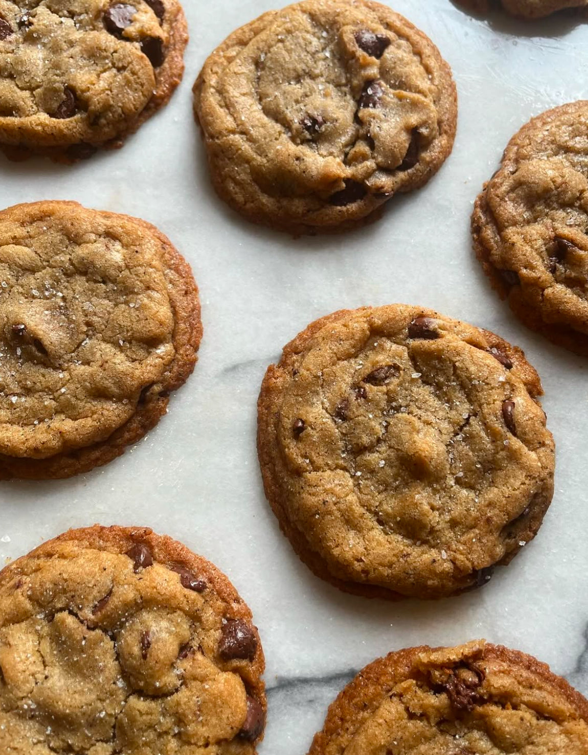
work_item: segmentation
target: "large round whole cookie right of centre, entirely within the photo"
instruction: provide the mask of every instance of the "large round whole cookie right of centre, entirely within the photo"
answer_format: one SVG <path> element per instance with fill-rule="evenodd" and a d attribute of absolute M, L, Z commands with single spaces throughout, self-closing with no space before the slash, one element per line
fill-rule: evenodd
<path fill-rule="evenodd" d="M 488 331 L 402 304 L 336 312 L 266 372 L 266 496 L 300 558 L 342 590 L 480 586 L 553 495 L 540 393 L 522 351 Z"/>

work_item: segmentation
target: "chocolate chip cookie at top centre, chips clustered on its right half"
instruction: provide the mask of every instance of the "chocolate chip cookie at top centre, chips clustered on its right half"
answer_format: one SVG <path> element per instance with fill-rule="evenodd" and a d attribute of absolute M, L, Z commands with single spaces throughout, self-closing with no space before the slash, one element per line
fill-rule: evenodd
<path fill-rule="evenodd" d="M 294 233 L 366 217 L 422 186 L 453 146 L 451 70 L 369 0 L 307 0 L 233 32 L 194 85 L 217 193 Z"/>

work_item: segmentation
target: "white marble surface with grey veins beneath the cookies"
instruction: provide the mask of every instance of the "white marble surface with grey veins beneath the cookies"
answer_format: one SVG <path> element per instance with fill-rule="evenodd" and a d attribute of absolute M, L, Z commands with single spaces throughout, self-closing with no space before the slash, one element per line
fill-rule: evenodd
<path fill-rule="evenodd" d="M 390 3 L 392 5 L 392 3 Z M 586 96 L 588 25 L 473 19 L 450 0 L 394 0 L 454 69 L 454 153 L 424 190 L 347 236 L 294 240 L 243 223 L 213 196 L 190 88 L 206 55 L 274 0 L 185 0 L 191 42 L 170 106 L 119 152 L 64 167 L 0 160 L 0 205 L 77 199 L 158 225 L 192 264 L 205 337 L 168 416 L 119 461 L 64 482 L 3 483 L 0 559 L 68 527 L 151 525 L 225 571 L 267 658 L 261 753 L 300 755 L 352 670 L 418 643 L 485 636 L 549 662 L 588 693 L 588 365 L 526 331 L 469 246 L 469 213 L 506 140 L 528 118 Z M 405 301 L 484 325 L 528 353 L 558 445 L 556 495 L 537 539 L 483 590 L 435 603 L 345 596 L 298 562 L 263 498 L 255 402 L 266 365 L 317 316 Z"/>

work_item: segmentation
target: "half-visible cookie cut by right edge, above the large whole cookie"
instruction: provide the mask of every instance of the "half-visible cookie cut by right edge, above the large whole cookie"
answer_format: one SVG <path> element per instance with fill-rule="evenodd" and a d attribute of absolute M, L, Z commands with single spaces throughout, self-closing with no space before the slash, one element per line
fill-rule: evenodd
<path fill-rule="evenodd" d="M 478 197 L 474 248 L 525 325 L 588 356 L 588 100 L 543 112 Z"/>

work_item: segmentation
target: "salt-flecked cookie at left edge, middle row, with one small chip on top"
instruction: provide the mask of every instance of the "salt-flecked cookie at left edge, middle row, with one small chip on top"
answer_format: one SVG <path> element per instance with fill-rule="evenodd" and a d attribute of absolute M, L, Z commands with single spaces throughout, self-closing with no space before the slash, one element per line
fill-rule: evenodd
<path fill-rule="evenodd" d="M 149 223 L 77 202 L 0 212 L 0 479 L 122 454 L 165 414 L 201 337 L 192 272 Z"/>

